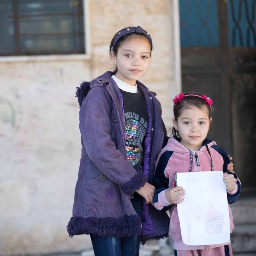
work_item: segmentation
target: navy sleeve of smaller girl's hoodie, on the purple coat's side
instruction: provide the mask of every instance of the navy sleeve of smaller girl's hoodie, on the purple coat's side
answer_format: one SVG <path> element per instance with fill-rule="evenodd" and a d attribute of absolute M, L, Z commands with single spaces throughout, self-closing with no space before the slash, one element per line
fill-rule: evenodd
<path fill-rule="evenodd" d="M 166 165 L 172 156 L 173 151 L 165 151 L 158 161 L 158 165 L 156 166 L 155 175 L 154 175 L 154 186 L 156 188 L 156 192 L 154 194 L 154 203 L 158 202 L 158 194 L 169 188 L 169 180 L 165 177 L 164 171 Z M 171 208 L 170 206 L 164 206 L 161 211 L 167 211 Z"/>

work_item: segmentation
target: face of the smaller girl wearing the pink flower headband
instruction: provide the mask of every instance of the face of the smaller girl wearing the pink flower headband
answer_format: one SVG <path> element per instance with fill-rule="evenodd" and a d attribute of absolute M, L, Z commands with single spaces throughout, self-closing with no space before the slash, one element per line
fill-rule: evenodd
<path fill-rule="evenodd" d="M 202 110 L 196 106 L 184 109 L 177 121 L 172 119 L 181 137 L 181 144 L 190 150 L 199 150 L 206 138 L 212 118 L 209 119 L 207 107 Z"/>

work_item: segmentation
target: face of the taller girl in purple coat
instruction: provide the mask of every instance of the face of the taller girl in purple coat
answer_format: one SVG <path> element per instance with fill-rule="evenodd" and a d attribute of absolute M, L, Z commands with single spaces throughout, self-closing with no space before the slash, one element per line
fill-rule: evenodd
<path fill-rule="evenodd" d="M 150 44 L 144 37 L 132 37 L 124 42 L 117 51 L 110 52 L 112 62 L 117 66 L 116 77 L 135 86 L 148 70 L 150 63 Z"/>

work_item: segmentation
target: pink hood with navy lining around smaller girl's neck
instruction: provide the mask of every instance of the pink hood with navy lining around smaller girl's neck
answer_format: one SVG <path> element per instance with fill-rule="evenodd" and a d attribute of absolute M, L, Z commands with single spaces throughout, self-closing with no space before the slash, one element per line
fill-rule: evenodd
<path fill-rule="evenodd" d="M 204 139 L 202 147 L 199 149 L 199 151 L 204 151 L 206 149 L 206 145 L 208 147 L 212 145 L 216 145 L 216 142 L 214 140 Z M 183 146 L 176 138 L 169 138 L 167 145 L 161 150 L 162 151 L 173 151 L 179 154 L 187 154 L 190 150 Z"/>

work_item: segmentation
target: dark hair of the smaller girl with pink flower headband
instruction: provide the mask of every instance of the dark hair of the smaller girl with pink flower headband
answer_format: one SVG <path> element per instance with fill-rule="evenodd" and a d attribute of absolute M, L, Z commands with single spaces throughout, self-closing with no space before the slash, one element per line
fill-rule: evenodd
<path fill-rule="evenodd" d="M 184 95 L 194 94 L 194 95 L 198 95 L 198 96 L 203 96 L 203 94 L 201 94 L 200 92 L 184 92 L 183 94 Z M 211 108 L 203 98 L 197 97 L 197 96 L 186 96 L 186 97 L 182 98 L 181 102 L 177 101 L 174 104 L 174 118 L 175 118 L 175 121 L 178 120 L 178 118 L 180 117 L 180 115 L 182 114 L 182 111 L 184 109 L 188 109 L 191 106 L 196 106 L 201 110 L 207 109 L 207 114 L 208 114 L 209 119 L 212 117 Z M 172 136 L 177 137 L 178 139 L 181 139 L 180 134 L 175 129 L 175 127 L 172 127 Z"/>

